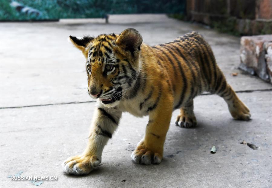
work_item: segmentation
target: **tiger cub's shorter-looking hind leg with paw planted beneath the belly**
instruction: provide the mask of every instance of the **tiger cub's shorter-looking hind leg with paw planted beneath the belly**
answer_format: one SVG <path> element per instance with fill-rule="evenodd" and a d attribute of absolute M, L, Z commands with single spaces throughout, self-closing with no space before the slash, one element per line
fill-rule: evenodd
<path fill-rule="evenodd" d="M 196 126 L 194 114 L 193 99 L 180 108 L 180 114 L 177 117 L 176 125 L 179 127 L 191 128 Z"/>

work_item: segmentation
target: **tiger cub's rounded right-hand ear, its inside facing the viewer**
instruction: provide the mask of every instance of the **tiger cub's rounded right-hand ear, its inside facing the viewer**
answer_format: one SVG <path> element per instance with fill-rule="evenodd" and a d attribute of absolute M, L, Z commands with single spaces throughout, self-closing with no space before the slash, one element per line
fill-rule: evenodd
<path fill-rule="evenodd" d="M 139 55 L 139 51 L 141 50 L 140 46 L 143 42 L 142 35 L 134 28 L 128 28 L 119 35 L 116 39 L 116 44 L 121 48 L 129 51 L 132 57 L 136 57 Z"/>

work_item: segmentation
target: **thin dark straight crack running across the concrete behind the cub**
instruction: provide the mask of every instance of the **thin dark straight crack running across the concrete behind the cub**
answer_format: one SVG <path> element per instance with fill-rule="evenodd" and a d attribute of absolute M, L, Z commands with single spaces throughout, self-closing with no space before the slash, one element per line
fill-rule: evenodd
<path fill-rule="evenodd" d="M 239 90 L 235 91 L 236 93 L 252 93 L 256 91 L 272 91 L 272 88 L 267 89 L 256 89 L 256 90 Z M 201 95 L 214 95 L 211 93 L 203 93 Z M 27 108 L 27 107 L 41 107 L 41 106 L 53 106 L 53 105 L 64 105 L 64 104 L 82 104 L 82 103 L 92 103 L 96 101 L 82 101 L 82 102 L 64 102 L 64 103 L 51 103 L 51 104 L 36 104 L 36 105 L 26 105 L 26 106 L 15 106 L 15 107 L 0 107 L 0 109 L 12 109 L 12 108 Z"/>

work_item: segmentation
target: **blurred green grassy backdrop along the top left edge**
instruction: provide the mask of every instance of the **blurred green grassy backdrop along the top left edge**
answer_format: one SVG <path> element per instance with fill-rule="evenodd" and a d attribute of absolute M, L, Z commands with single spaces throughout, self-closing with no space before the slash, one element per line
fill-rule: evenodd
<path fill-rule="evenodd" d="M 106 14 L 183 13 L 185 0 L 16 0 L 42 12 L 36 17 L 0 0 L 1 20 L 47 20 L 60 18 L 103 18 Z"/>

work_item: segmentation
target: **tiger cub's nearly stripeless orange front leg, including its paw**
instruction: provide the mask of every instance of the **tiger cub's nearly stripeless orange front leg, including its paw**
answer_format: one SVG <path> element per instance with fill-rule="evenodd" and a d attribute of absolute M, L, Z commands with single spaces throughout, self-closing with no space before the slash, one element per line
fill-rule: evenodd
<path fill-rule="evenodd" d="M 144 138 L 138 143 L 136 150 L 131 154 L 135 163 L 149 165 L 161 163 L 163 144 L 172 116 L 171 100 L 164 100 L 149 114 Z"/>

